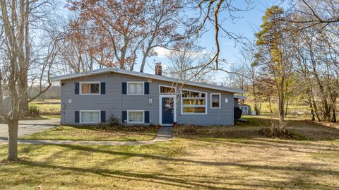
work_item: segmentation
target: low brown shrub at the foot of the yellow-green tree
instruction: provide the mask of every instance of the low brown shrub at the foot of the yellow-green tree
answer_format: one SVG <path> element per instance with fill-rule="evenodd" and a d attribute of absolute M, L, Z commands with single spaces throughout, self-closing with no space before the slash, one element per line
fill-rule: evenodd
<path fill-rule="evenodd" d="M 269 138 L 282 138 L 282 139 L 296 139 L 295 133 L 292 130 L 286 129 L 286 124 L 280 122 L 272 122 L 270 127 L 260 129 L 259 134 Z"/>

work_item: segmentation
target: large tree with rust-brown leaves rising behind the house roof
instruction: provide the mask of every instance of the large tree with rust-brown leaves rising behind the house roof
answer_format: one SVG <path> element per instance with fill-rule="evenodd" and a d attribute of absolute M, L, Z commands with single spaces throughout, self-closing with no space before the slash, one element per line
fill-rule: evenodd
<path fill-rule="evenodd" d="M 177 30 L 184 22 L 180 14 L 184 6 L 186 1 L 173 0 L 79 0 L 67 4 L 71 11 L 80 12 L 78 20 L 71 21 L 71 29 L 87 43 L 84 51 L 92 57 L 103 52 L 99 64 L 131 71 L 141 53 L 141 72 L 155 47 L 171 48 L 184 34 L 192 33 Z"/>

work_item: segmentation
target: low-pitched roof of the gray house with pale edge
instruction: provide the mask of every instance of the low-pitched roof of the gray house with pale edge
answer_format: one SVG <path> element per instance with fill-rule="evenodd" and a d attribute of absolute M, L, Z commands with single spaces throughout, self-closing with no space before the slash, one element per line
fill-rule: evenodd
<path fill-rule="evenodd" d="M 225 86 L 220 86 L 220 85 L 211 85 L 211 84 L 206 84 L 206 83 L 196 83 L 192 81 L 184 81 L 182 79 L 177 79 L 177 78 L 171 78 L 167 76 L 158 76 L 158 75 L 153 75 L 149 73 L 140 73 L 136 71 L 127 71 L 124 69 L 117 69 L 117 68 L 105 68 L 105 69 L 97 69 L 93 71 L 85 71 L 83 73 L 71 73 L 63 76 L 56 76 L 52 77 L 51 81 L 62 81 L 62 80 L 69 80 L 72 78 L 80 78 L 84 76 L 93 76 L 93 75 L 98 75 L 98 74 L 103 74 L 103 73 L 121 73 L 129 76 L 138 76 L 142 78 L 151 78 L 154 80 L 159 80 L 159 81 L 167 81 L 167 82 L 174 82 L 174 83 L 182 83 L 186 85 L 193 85 L 193 86 L 198 86 L 202 88 L 210 88 L 214 90 L 222 90 L 230 93 L 244 93 L 244 90 L 242 89 L 237 89 L 237 88 L 228 88 Z"/>

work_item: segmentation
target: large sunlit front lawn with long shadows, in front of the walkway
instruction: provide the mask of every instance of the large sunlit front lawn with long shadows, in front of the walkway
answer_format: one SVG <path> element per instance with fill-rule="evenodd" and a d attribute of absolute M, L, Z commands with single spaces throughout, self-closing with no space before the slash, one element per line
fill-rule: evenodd
<path fill-rule="evenodd" d="M 249 120 L 150 146 L 20 145 L 0 189 L 338 189 L 339 129 L 291 120 L 308 140 L 279 140 L 258 136 L 269 119 Z"/>

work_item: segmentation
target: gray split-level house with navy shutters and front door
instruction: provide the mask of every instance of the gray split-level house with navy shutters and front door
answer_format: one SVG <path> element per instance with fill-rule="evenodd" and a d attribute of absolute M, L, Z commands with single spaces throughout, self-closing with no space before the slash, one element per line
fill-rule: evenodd
<path fill-rule="evenodd" d="M 244 90 L 106 68 L 52 78 L 61 84 L 61 124 L 234 124 L 234 94 Z"/>

